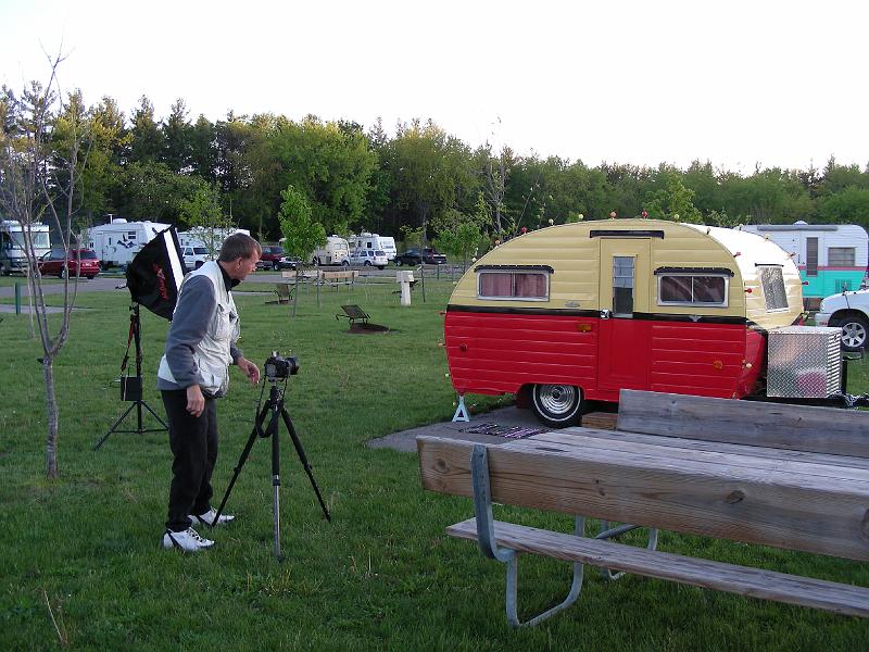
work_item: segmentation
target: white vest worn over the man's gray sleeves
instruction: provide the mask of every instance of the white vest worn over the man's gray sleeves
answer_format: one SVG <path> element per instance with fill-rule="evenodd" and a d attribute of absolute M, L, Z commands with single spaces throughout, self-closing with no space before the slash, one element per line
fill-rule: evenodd
<path fill-rule="evenodd" d="M 229 365 L 232 364 L 229 347 L 238 340 L 239 336 L 238 311 L 236 302 L 232 301 L 232 294 L 226 289 L 223 272 L 216 261 L 209 261 L 199 269 L 185 276 L 181 287 L 178 289 L 178 300 L 187 286 L 187 280 L 192 276 L 207 276 L 211 279 L 214 286 L 214 298 L 217 302 L 204 337 L 193 349 L 193 361 L 202 376 L 200 387 L 203 391 L 211 396 L 222 397 L 229 387 Z M 156 375 L 169 383 L 176 383 L 165 354 L 160 360 Z"/>

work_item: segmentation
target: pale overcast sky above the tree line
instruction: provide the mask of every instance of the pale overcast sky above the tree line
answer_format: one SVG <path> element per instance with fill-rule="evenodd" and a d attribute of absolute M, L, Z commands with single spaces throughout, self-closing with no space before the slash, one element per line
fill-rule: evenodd
<path fill-rule="evenodd" d="M 0 0 L 0 83 L 159 117 L 432 118 L 520 154 L 869 163 L 869 1 Z"/>

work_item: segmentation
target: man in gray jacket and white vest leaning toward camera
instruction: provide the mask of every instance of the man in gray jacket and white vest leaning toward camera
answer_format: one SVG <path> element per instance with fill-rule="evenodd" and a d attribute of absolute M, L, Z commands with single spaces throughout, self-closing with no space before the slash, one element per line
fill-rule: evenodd
<path fill-rule="evenodd" d="M 197 552 L 214 544 L 194 525 L 224 525 L 234 517 L 211 506 L 211 476 L 217 460 L 215 399 L 226 393 L 229 365 L 260 381 L 259 367 L 236 347 L 239 321 L 231 288 L 256 269 L 262 249 L 244 234 L 229 236 L 217 261 L 190 272 L 181 283 L 158 389 L 169 424 L 172 484 L 164 548 Z"/>

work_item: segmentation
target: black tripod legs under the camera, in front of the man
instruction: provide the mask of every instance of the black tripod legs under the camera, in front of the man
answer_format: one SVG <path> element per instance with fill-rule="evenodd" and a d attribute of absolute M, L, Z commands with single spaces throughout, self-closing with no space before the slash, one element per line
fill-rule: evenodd
<path fill-rule="evenodd" d="M 299 455 L 299 461 L 302 463 L 302 467 L 307 474 L 307 479 L 311 480 L 311 486 L 314 488 L 314 493 L 317 494 L 317 500 L 319 501 L 319 506 L 323 509 L 324 516 L 326 516 L 326 521 L 331 523 L 332 518 L 329 515 L 329 510 L 326 507 L 326 503 L 324 502 L 323 496 L 319 492 L 317 481 L 314 479 L 314 474 L 311 471 L 311 465 L 307 463 L 307 457 L 305 456 L 305 451 L 302 448 L 302 442 L 299 440 L 299 436 L 295 434 L 295 428 L 292 425 L 290 414 L 284 406 L 284 391 L 278 389 L 277 380 L 275 378 L 268 378 L 268 383 L 272 385 L 272 389 L 268 392 L 268 404 L 264 405 L 260 411 L 260 414 L 256 416 L 256 423 L 251 430 L 251 436 L 248 438 L 248 443 L 244 444 L 244 450 L 241 451 L 241 456 L 238 460 L 238 466 L 236 466 L 235 472 L 232 473 L 232 479 L 229 480 L 229 486 L 226 488 L 226 493 L 224 494 L 224 499 L 221 501 L 221 506 L 217 509 L 217 514 L 215 515 L 213 523 L 216 524 L 217 519 L 221 517 L 221 514 L 226 506 L 226 501 L 229 500 L 229 493 L 232 491 L 232 487 L 235 486 L 236 480 L 241 473 L 241 467 L 244 466 L 244 462 L 248 460 L 248 455 L 253 448 L 253 442 L 256 441 L 256 437 L 270 437 L 272 486 L 274 487 L 273 510 L 275 514 L 275 557 L 280 561 L 280 496 L 278 491 L 280 488 L 280 437 L 278 437 L 278 418 L 284 418 L 284 425 L 287 426 L 287 430 L 290 434 L 292 443 L 295 447 L 295 453 Z M 263 424 L 266 422 L 266 416 L 268 416 L 268 424 L 266 425 L 265 430 L 263 430 Z"/>

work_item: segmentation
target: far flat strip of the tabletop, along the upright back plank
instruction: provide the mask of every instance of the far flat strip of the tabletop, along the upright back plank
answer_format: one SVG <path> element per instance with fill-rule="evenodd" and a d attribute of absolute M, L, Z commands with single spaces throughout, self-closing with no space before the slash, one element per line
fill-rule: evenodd
<path fill-rule="evenodd" d="M 660 435 L 643 435 L 641 432 L 625 432 L 622 430 L 601 430 L 574 426 L 562 428 L 557 432 L 563 435 L 578 435 L 581 437 L 595 437 L 599 439 L 617 439 L 620 441 L 637 441 L 639 443 L 653 443 L 673 448 L 691 448 L 698 451 L 720 451 L 739 452 L 745 450 L 745 444 L 725 443 L 720 441 L 701 441 L 698 439 L 687 439 L 682 437 L 666 437 Z M 540 436 L 538 436 L 540 437 Z M 751 447 L 753 455 L 758 457 L 771 457 L 773 460 L 790 460 L 793 462 L 813 462 L 827 464 L 829 466 L 844 466 L 847 468 L 859 468 L 869 471 L 868 457 L 848 457 L 846 455 L 828 455 L 824 453 L 810 453 L 807 451 L 791 451 L 786 449 L 765 448 L 760 446 Z"/>

